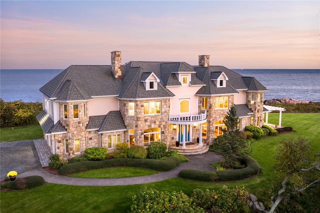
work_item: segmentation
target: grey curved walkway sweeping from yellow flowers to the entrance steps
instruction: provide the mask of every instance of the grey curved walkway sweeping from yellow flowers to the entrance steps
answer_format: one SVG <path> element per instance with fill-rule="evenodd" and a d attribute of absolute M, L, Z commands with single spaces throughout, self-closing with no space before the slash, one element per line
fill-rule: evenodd
<path fill-rule="evenodd" d="M 52 175 L 43 169 L 35 169 L 19 174 L 18 178 L 27 176 L 41 176 L 44 181 L 52 184 L 74 185 L 74 186 L 124 186 L 135 184 L 146 184 L 159 182 L 171 178 L 178 177 L 180 170 L 194 169 L 202 171 L 214 171 L 214 168 L 209 163 L 219 162 L 221 156 L 212 152 L 207 152 L 202 155 L 187 156 L 189 162 L 181 163 L 175 169 L 168 172 L 160 172 L 155 175 L 139 176 L 132 178 L 115 178 L 115 179 L 91 179 L 91 178 L 71 178 L 66 176 Z"/>

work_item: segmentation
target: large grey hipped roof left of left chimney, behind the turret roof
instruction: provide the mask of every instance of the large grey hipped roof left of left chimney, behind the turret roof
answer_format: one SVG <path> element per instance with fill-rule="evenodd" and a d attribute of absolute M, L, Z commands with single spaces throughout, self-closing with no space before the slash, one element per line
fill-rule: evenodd
<path fill-rule="evenodd" d="M 121 79 L 113 77 L 111 66 L 71 65 L 42 86 L 39 91 L 55 99 L 62 93 L 62 89 L 65 89 L 67 80 L 72 80 L 73 84 L 80 87 L 82 92 L 90 97 L 116 96 L 121 83 Z"/>

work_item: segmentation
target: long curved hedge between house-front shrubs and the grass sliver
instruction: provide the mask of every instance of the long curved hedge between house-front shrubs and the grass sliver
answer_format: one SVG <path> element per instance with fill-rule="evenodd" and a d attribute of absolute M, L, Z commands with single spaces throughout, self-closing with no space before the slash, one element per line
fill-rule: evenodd
<path fill-rule="evenodd" d="M 113 158 L 103 161 L 82 161 L 67 164 L 61 167 L 58 172 L 60 175 L 71 175 L 83 171 L 108 167 L 137 167 L 163 172 L 170 171 L 177 167 L 179 164 L 180 160 L 176 157 L 169 157 L 164 161 L 153 159 Z"/>

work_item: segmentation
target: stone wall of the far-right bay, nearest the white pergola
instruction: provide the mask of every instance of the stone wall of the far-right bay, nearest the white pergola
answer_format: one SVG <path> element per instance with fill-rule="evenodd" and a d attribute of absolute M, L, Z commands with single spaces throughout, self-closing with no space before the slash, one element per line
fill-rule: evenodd
<path fill-rule="evenodd" d="M 261 103 L 258 104 L 258 94 L 261 94 Z M 251 94 L 254 94 L 254 103 L 251 104 Z M 264 114 L 263 114 L 263 92 L 246 92 L 245 94 L 245 100 L 246 100 L 246 105 L 248 106 L 249 109 L 252 110 L 253 112 L 253 126 L 259 126 L 261 127 L 263 124 L 263 119 L 264 119 Z M 258 125 L 258 118 L 260 120 L 259 125 Z"/>

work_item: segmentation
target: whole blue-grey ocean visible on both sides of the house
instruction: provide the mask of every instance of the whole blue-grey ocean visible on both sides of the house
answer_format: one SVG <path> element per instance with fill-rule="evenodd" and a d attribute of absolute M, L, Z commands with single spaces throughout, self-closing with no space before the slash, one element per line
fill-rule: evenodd
<path fill-rule="evenodd" d="M 320 102 L 320 69 L 232 69 L 255 77 L 268 92 L 264 100 L 291 98 Z M 1 69 L 0 98 L 4 101 L 41 102 L 39 88 L 62 69 Z"/>

